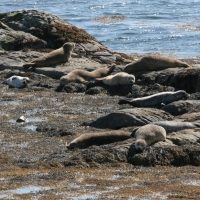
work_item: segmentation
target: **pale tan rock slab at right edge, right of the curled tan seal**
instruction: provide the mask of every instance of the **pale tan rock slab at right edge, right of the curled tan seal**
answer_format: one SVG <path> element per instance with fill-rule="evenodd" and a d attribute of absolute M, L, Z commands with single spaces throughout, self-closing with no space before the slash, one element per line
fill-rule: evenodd
<path fill-rule="evenodd" d="M 167 136 L 176 145 L 200 143 L 200 129 L 186 129 Z"/>

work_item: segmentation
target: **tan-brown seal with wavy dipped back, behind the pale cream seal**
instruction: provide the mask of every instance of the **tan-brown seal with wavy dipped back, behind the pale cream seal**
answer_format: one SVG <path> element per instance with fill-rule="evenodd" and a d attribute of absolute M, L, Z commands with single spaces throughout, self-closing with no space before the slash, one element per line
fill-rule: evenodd
<path fill-rule="evenodd" d="M 88 83 L 103 76 L 107 76 L 114 70 L 115 66 L 107 66 L 96 69 L 92 72 L 76 69 L 60 78 L 60 85 L 66 85 L 69 82 Z"/>

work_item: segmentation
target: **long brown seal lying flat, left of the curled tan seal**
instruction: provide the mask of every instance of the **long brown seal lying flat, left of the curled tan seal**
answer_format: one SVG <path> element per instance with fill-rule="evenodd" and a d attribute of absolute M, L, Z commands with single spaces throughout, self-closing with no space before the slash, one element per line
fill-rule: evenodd
<path fill-rule="evenodd" d="M 130 132 L 125 131 L 106 131 L 98 133 L 85 133 L 66 143 L 68 149 L 87 148 L 91 145 L 103 145 L 131 138 Z"/>

